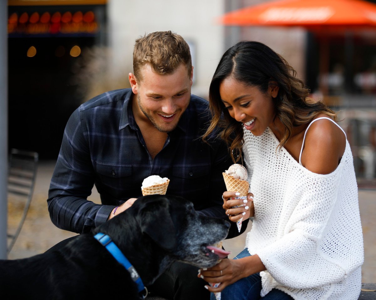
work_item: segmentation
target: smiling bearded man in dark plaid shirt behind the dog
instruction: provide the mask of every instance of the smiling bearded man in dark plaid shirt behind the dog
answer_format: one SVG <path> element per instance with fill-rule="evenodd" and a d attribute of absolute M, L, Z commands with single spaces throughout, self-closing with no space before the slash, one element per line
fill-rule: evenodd
<path fill-rule="evenodd" d="M 226 219 L 222 172 L 231 161 L 222 141 L 200 139 L 208 103 L 191 95 L 188 44 L 171 31 L 137 39 L 133 72 L 131 89 L 99 95 L 68 120 L 47 199 L 52 222 L 89 232 L 130 207 L 152 174 L 170 179 L 167 195 L 183 196 L 199 213 Z M 87 200 L 94 183 L 102 205 Z M 235 226 L 229 237 L 236 234 Z M 170 299 L 209 299 L 205 284 L 197 268 L 176 263 L 150 291 Z"/>

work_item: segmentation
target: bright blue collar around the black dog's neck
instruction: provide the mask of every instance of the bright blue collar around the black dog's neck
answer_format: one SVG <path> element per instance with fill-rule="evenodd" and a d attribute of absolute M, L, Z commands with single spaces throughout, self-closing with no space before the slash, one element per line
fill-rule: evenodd
<path fill-rule="evenodd" d="M 99 243 L 101 243 L 108 252 L 111 253 L 111 255 L 117 260 L 120 264 L 122 264 L 125 269 L 130 273 L 130 277 L 132 280 L 137 284 L 138 287 L 138 293 L 141 293 L 145 291 L 145 294 L 142 295 L 143 299 L 147 295 L 147 288 L 144 286 L 140 276 L 138 275 L 135 267 L 133 267 L 129 260 L 124 256 L 124 254 L 120 251 L 120 249 L 115 245 L 114 242 L 112 242 L 112 239 L 109 235 L 104 233 L 97 233 L 94 236 Z"/>

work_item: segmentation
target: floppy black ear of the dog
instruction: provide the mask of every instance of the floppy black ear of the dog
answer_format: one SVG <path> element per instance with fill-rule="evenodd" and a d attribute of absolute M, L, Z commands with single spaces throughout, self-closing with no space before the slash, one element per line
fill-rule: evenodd
<path fill-rule="evenodd" d="M 143 208 L 140 219 L 141 231 L 167 251 L 176 247 L 176 230 L 167 201 L 153 201 Z"/>

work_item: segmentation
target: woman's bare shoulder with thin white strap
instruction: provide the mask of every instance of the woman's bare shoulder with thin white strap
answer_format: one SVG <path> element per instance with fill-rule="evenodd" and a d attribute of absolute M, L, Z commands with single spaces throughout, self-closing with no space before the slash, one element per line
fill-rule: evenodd
<path fill-rule="evenodd" d="M 343 156 L 346 136 L 326 114 L 317 115 L 306 132 L 301 162 L 311 172 L 333 172 Z"/>

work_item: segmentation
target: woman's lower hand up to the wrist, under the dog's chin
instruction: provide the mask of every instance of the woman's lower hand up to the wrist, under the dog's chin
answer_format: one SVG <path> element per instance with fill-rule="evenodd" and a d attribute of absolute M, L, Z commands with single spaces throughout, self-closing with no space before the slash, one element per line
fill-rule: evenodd
<path fill-rule="evenodd" d="M 200 269 L 198 277 L 211 283 L 220 282 L 221 284 L 217 288 L 205 285 L 205 288 L 210 292 L 217 293 L 222 291 L 227 285 L 233 284 L 235 281 L 246 277 L 243 275 L 243 272 L 244 264 L 241 263 L 241 260 L 229 260 L 225 258 L 214 267 L 207 270 Z"/>

